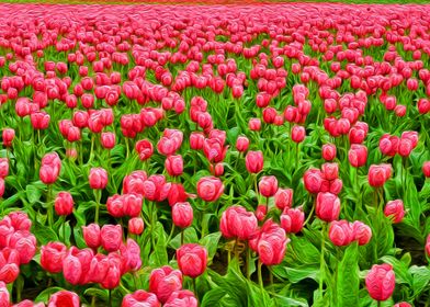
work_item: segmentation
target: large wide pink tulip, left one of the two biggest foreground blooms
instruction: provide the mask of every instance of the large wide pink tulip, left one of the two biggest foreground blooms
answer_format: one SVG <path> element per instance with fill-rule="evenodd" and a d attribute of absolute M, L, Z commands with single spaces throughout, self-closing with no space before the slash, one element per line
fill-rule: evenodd
<path fill-rule="evenodd" d="M 223 213 L 219 224 L 219 230 L 225 238 L 236 237 L 240 240 L 250 239 L 257 227 L 256 216 L 241 206 L 228 207 Z"/>

